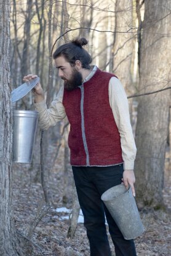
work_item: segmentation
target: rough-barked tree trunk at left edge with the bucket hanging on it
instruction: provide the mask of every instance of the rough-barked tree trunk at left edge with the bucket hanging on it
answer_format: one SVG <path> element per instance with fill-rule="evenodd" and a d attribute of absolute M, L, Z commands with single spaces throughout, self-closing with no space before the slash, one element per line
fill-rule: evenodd
<path fill-rule="evenodd" d="M 0 0 L 0 248 L 1 256 L 22 255 L 12 216 L 12 111 L 10 105 L 10 1 Z M 19 252 L 20 251 L 20 252 Z"/>

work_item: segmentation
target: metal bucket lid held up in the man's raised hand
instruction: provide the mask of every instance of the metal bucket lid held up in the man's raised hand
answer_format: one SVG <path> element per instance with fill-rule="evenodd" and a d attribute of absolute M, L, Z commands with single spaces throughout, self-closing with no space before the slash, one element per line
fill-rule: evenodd
<path fill-rule="evenodd" d="M 17 102 L 17 100 L 20 100 L 20 98 L 23 98 L 30 90 L 36 86 L 39 82 L 39 77 L 32 79 L 29 82 L 25 82 L 21 86 L 18 86 L 16 89 L 12 90 L 11 92 L 11 101 Z"/>

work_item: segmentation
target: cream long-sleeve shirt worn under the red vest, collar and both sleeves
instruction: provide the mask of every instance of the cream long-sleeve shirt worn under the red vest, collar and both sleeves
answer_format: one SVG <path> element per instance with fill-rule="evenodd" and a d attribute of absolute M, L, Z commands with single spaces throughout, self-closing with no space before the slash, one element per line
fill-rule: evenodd
<path fill-rule="evenodd" d="M 84 82 L 92 78 L 96 70 L 97 66 L 94 66 L 89 76 L 84 79 Z M 34 104 L 36 110 L 39 111 L 39 124 L 42 129 L 48 129 L 50 126 L 55 126 L 58 121 L 65 118 L 66 113 L 63 106 L 63 91 L 64 87 L 61 87 L 57 98 L 51 103 L 49 109 L 47 109 L 44 100 Z M 114 120 L 121 137 L 124 170 L 133 170 L 137 149 L 130 124 L 129 104 L 124 87 L 119 79 L 115 77 L 112 77 L 109 80 L 109 105 L 113 111 Z"/>

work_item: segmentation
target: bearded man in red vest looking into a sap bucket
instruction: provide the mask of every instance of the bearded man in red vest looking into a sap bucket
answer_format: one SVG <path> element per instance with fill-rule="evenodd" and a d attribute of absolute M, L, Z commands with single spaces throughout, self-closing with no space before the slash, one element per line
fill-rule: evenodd
<path fill-rule="evenodd" d="M 129 118 L 127 96 L 119 79 L 97 66 L 82 47 L 84 38 L 63 44 L 54 52 L 58 76 L 64 86 L 47 110 L 41 84 L 34 88 L 35 107 L 42 129 L 68 117 L 71 166 L 84 214 L 91 256 L 109 256 L 109 233 L 117 256 L 134 256 L 133 240 L 125 240 L 101 201 L 101 194 L 124 182 L 135 196 L 133 163 L 136 146 Z M 34 75 L 25 76 L 28 81 Z"/>

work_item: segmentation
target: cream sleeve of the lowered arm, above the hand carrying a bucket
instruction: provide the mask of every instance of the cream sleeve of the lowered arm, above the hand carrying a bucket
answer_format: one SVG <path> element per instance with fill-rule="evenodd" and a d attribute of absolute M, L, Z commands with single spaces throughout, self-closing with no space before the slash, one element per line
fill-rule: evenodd
<path fill-rule="evenodd" d="M 114 77 L 109 81 L 109 104 L 121 136 L 124 170 L 133 170 L 137 148 L 130 124 L 129 104 L 124 87 L 119 79 Z"/>

